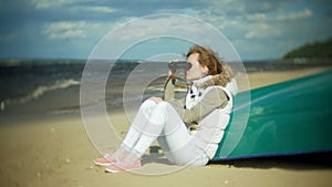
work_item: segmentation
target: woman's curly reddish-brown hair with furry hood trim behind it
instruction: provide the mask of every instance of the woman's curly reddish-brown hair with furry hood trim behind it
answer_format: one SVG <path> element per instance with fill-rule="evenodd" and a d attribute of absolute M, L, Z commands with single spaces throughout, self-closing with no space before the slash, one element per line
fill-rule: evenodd
<path fill-rule="evenodd" d="M 186 56 L 188 58 L 193 53 L 198 53 L 199 64 L 208 67 L 209 75 L 215 75 L 212 76 L 215 84 L 225 86 L 234 77 L 234 71 L 230 66 L 220 60 L 219 54 L 211 49 L 194 45 Z"/>

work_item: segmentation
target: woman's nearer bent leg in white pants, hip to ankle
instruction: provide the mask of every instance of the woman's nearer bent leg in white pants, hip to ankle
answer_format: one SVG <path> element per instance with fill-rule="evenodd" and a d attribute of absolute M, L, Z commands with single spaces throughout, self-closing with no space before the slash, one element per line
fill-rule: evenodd
<path fill-rule="evenodd" d="M 207 164 L 208 157 L 196 147 L 183 120 L 167 102 L 159 102 L 155 106 L 133 153 L 141 157 L 157 137 L 170 162 L 178 165 Z"/>

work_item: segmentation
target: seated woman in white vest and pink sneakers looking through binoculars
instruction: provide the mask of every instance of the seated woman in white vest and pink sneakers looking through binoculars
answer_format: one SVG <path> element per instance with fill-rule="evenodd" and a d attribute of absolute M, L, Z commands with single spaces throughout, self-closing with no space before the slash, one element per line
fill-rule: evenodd
<path fill-rule="evenodd" d="M 94 160 L 117 173 L 142 167 L 141 157 L 158 141 L 167 159 L 177 165 L 205 166 L 216 154 L 229 122 L 237 85 L 229 66 L 206 48 L 195 45 L 187 61 L 191 81 L 185 100 L 174 98 L 172 71 L 164 98 L 151 97 L 141 105 L 132 126 L 114 154 Z"/>

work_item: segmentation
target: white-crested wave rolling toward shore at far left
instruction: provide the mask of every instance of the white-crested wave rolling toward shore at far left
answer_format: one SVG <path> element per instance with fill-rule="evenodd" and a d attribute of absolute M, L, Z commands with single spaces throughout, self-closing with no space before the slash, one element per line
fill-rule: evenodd
<path fill-rule="evenodd" d="M 24 96 L 20 96 L 17 98 L 7 98 L 4 101 L 0 102 L 0 110 L 3 111 L 8 106 L 24 104 L 29 101 L 37 100 L 41 97 L 46 92 L 56 91 L 56 90 L 63 90 L 68 89 L 70 86 L 80 85 L 79 81 L 75 81 L 73 79 L 66 79 L 66 80 L 58 80 L 52 84 L 48 85 L 40 85 L 37 89 L 34 89 L 32 92 L 28 93 Z"/>

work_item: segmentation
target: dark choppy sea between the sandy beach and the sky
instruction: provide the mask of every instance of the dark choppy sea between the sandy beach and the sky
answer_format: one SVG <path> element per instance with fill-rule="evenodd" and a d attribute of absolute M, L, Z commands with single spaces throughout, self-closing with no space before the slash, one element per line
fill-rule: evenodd
<path fill-rule="evenodd" d="M 110 64 L 103 101 L 107 111 L 123 110 L 125 102 L 143 102 L 149 96 L 163 96 L 167 81 L 167 62 L 139 60 L 1 60 L 0 61 L 0 117 L 80 114 L 81 83 L 86 64 Z M 245 67 L 243 67 L 245 64 Z M 303 63 L 232 63 L 237 73 L 290 70 Z M 93 66 L 93 65 L 92 65 Z M 179 75 L 180 76 L 180 75 Z M 129 80 L 129 81 L 128 81 Z M 98 82 L 94 83 L 98 84 Z M 102 82 L 101 82 L 102 84 Z M 177 82 L 177 96 L 185 95 L 188 82 Z M 102 85 L 103 86 L 103 85 Z M 101 90 L 102 92 L 103 90 Z M 87 103 L 89 105 L 90 103 Z"/>

